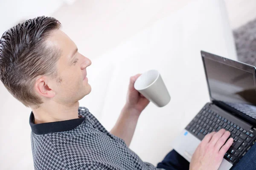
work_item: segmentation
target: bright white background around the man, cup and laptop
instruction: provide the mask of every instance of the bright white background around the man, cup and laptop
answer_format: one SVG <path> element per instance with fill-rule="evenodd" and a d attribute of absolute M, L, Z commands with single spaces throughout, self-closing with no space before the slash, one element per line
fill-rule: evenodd
<path fill-rule="evenodd" d="M 0 33 L 40 15 L 60 20 L 63 31 L 92 60 L 88 68 L 92 92 L 80 105 L 108 130 L 125 102 L 129 77 L 157 68 L 171 102 L 164 108 L 148 105 L 130 146 L 143 161 L 156 165 L 171 150 L 169 142 L 207 102 L 199 51 L 236 59 L 231 28 L 256 16 L 251 11 L 253 0 L 226 2 L 230 22 L 221 0 L 0 0 Z M 31 110 L 2 83 L 0 103 L 0 169 L 31 170 Z"/>

